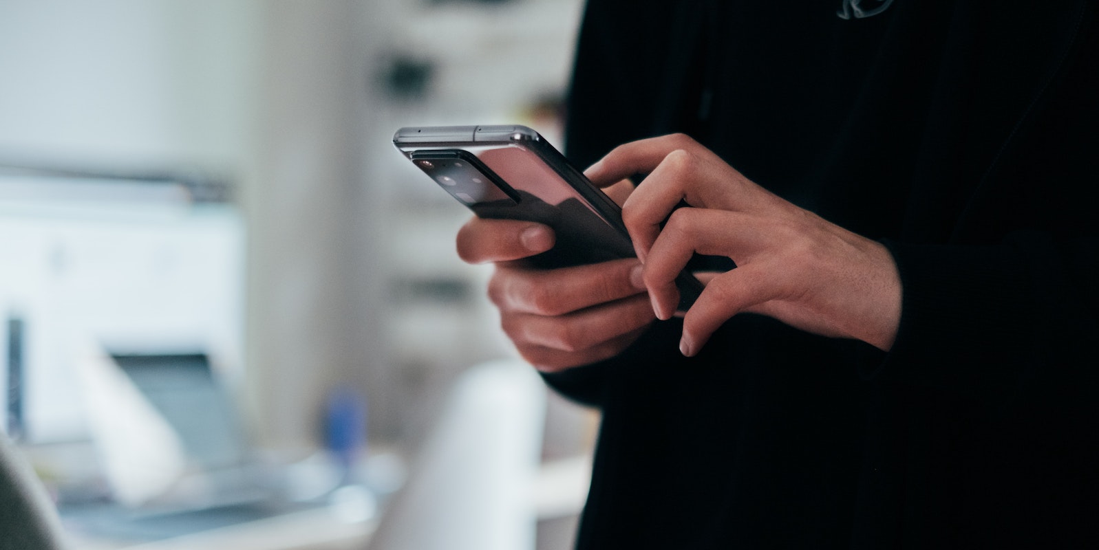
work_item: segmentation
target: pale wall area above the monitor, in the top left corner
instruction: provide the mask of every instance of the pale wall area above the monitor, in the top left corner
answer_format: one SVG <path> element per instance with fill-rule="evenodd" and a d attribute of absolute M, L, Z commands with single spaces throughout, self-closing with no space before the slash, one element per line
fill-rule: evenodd
<path fill-rule="evenodd" d="M 234 168 L 254 2 L 0 1 L 0 154 Z"/>

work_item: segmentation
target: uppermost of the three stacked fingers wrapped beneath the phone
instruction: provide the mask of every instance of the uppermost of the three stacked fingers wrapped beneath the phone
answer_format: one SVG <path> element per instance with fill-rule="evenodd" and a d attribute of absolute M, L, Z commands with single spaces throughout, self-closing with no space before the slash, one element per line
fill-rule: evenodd
<path fill-rule="evenodd" d="M 641 274 L 633 258 L 547 270 L 501 266 L 488 295 L 504 312 L 564 315 L 644 292 Z"/>

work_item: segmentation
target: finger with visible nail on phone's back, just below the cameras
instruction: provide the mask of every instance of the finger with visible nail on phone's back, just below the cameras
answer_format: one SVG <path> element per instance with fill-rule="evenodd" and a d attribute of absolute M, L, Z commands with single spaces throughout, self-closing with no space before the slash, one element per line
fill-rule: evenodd
<path fill-rule="evenodd" d="M 458 229 L 458 257 L 468 263 L 526 258 L 553 248 L 548 226 L 515 220 L 473 217 Z"/>

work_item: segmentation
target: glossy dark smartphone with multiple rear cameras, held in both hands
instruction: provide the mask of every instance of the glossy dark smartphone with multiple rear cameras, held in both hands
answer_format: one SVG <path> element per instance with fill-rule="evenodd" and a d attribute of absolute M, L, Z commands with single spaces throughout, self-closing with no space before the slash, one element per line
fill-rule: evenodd
<path fill-rule="evenodd" d="M 393 145 L 477 216 L 553 228 L 556 244 L 530 258 L 535 267 L 635 257 L 619 205 L 526 126 L 403 127 Z M 684 271 L 676 287 L 678 310 L 686 312 L 702 283 Z"/>

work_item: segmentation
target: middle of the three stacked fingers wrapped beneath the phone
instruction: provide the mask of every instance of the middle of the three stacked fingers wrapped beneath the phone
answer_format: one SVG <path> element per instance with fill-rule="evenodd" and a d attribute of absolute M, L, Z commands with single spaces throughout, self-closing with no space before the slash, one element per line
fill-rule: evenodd
<path fill-rule="evenodd" d="M 582 351 L 602 345 L 655 321 L 644 295 L 558 316 L 509 315 L 501 324 L 513 341 L 560 351 Z"/>

